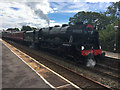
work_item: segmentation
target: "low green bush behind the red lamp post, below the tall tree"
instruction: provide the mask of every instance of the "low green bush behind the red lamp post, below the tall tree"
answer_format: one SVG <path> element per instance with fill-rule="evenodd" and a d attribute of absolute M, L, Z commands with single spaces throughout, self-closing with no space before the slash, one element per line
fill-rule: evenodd
<path fill-rule="evenodd" d="M 119 35 L 120 35 L 120 31 L 117 32 L 117 50 L 115 52 L 120 52 L 120 50 L 118 49 Z M 99 41 L 103 50 L 114 52 L 115 31 L 113 24 L 107 25 L 106 29 L 99 31 Z"/>

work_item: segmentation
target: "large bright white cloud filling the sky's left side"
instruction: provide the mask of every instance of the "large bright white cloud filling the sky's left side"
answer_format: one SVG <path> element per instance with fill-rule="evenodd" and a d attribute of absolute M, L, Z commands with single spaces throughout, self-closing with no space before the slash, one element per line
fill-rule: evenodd
<path fill-rule="evenodd" d="M 21 28 L 23 25 L 37 28 L 47 26 L 45 18 L 40 16 L 41 13 L 47 14 L 52 11 L 47 0 L 31 4 L 32 6 L 26 5 L 26 2 L 0 2 L 0 25 L 2 26 L 0 29 Z M 40 6 L 44 6 L 44 10 L 43 8 L 40 9 Z"/>

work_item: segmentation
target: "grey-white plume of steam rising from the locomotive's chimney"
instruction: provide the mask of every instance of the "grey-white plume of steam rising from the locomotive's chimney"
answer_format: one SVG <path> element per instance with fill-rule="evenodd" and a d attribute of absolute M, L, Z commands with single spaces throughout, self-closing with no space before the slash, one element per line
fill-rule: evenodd
<path fill-rule="evenodd" d="M 38 4 L 38 2 L 27 2 L 26 3 L 26 5 L 29 6 L 38 17 L 45 19 L 49 25 L 49 23 L 50 23 L 49 18 L 47 17 L 46 14 L 43 13 L 43 11 L 41 9 L 36 8 L 37 4 Z"/>

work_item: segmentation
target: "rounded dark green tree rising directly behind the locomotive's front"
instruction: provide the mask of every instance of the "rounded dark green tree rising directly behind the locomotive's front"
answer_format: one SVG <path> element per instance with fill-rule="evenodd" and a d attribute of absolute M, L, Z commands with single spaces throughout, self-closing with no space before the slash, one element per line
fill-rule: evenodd
<path fill-rule="evenodd" d="M 110 23 L 110 19 L 104 14 L 82 11 L 70 17 L 69 25 L 74 25 L 76 22 L 89 23 L 102 29 Z"/>

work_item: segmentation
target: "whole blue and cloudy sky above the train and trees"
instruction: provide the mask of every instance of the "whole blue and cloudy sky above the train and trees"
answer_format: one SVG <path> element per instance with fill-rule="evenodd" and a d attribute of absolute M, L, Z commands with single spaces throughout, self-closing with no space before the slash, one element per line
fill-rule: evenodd
<path fill-rule="evenodd" d="M 1 0 L 0 30 L 62 25 L 80 11 L 104 12 L 119 0 Z"/>

